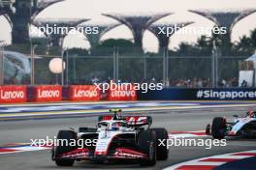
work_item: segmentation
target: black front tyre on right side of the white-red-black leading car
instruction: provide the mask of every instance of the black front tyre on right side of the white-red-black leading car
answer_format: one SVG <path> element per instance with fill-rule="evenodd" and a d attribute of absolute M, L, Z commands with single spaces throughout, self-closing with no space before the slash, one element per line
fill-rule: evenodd
<path fill-rule="evenodd" d="M 146 159 L 140 160 L 141 166 L 153 166 L 156 163 L 156 135 L 153 130 L 146 129 L 138 134 L 139 151 L 146 154 Z"/>

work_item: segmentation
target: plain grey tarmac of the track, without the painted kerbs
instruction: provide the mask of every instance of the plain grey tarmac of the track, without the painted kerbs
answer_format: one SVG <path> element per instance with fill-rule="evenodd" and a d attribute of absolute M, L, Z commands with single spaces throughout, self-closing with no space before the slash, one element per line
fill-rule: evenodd
<path fill-rule="evenodd" d="M 197 131 L 204 130 L 211 123 L 213 117 L 226 116 L 232 118 L 234 114 L 244 116 L 248 107 L 236 108 L 202 108 L 187 109 L 182 111 L 161 110 L 156 113 L 140 113 L 150 115 L 153 118 L 152 127 L 167 128 L 168 131 Z M 42 120 L 25 121 L 3 121 L 0 122 L 0 146 L 7 143 L 27 143 L 30 139 L 53 138 L 59 129 L 79 127 L 95 127 L 97 117 L 85 116 L 79 118 L 55 118 Z M 198 136 L 204 140 L 211 137 Z M 158 161 L 153 167 L 142 168 L 136 163 L 107 163 L 99 164 L 90 161 L 76 162 L 74 167 L 60 168 L 50 159 L 49 150 L 31 151 L 14 154 L 0 154 L 1 170 L 53 170 L 53 169 L 163 169 L 179 162 L 190 159 L 215 156 L 234 152 L 256 150 L 256 139 L 241 139 L 228 137 L 227 146 L 212 147 L 191 147 L 172 146 L 168 160 Z M 249 161 L 249 160 L 247 160 Z M 223 168 L 222 168 L 223 169 Z"/>

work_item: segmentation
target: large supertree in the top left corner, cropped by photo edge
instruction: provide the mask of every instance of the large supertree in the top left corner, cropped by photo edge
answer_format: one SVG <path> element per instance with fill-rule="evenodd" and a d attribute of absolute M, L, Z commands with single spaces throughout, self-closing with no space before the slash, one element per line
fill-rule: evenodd
<path fill-rule="evenodd" d="M 49 6 L 64 0 L 1 0 L 0 14 L 12 27 L 12 42 L 29 42 L 29 27 L 35 17 Z"/>

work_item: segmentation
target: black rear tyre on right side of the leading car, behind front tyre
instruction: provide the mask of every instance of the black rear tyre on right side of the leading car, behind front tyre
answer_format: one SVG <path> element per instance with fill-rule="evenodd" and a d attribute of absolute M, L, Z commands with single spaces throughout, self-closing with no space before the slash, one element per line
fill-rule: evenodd
<path fill-rule="evenodd" d="M 165 128 L 152 128 L 156 134 L 156 158 L 158 160 L 166 160 L 168 158 L 169 150 L 166 145 L 162 145 L 160 141 L 167 141 L 169 139 L 168 132 Z"/>

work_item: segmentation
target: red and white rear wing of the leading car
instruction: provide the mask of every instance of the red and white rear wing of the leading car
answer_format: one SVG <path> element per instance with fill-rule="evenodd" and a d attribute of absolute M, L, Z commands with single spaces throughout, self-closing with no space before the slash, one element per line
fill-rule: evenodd
<path fill-rule="evenodd" d="M 112 115 L 100 116 L 98 121 L 110 121 L 112 118 Z M 151 116 L 121 116 L 120 120 L 126 121 L 127 124 L 132 127 L 151 126 L 152 124 Z"/>

